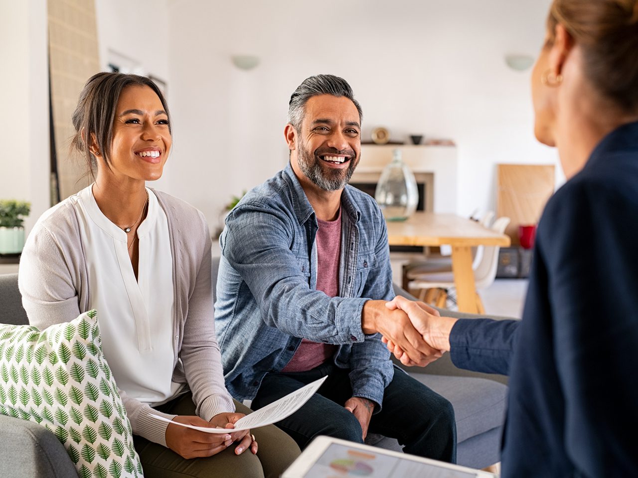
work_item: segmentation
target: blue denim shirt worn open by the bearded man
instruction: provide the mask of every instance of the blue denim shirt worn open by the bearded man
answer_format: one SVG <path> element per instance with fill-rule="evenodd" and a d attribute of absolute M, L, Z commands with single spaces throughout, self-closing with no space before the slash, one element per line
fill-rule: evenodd
<path fill-rule="evenodd" d="M 351 370 L 353 396 L 381 409 L 392 363 L 380 335 L 361 330 L 361 312 L 368 299 L 394 297 L 387 229 L 375 200 L 350 185 L 341 207 L 336 297 L 316 290 L 318 224 L 290 164 L 226 217 L 215 326 L 237 400 L 252 400 L 263 376 L 281 371 L 307 338 L 339 345 L 334 363 Z"/>

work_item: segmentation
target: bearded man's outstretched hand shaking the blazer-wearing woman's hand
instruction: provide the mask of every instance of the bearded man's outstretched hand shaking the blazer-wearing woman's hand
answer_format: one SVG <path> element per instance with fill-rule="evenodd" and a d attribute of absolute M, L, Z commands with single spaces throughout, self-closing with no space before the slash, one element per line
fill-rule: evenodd
<path fill-rule="evenodd" d="M 364 333 L 380 332 L 415 365 L 426 366 L 441 356 L 440 351 L 426 344 L 422 333 L 415 329 L 408 315 L 399 307 L 385 307 L 383 300 L 369 300 L 364 304 L 361 315 Z"/>

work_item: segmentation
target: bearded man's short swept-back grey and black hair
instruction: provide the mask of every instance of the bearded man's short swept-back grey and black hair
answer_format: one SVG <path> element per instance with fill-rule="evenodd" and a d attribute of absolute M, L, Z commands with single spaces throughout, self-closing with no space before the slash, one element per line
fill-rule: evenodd
<path fill-rule="evenodd" d="M 304 119 L 304 113 L 306 113 L 306 103 L 313 96 L 320 94 L 331 94 L 332 96 L 345 96 L 350 99 L 352 103 L 357 107 L 359 112 L 359 123 L 363 119 L 363 112 L 361 111 L 361 105 L 354 98 L 352 88 L 348 85 L 348 82 L 339 76 L 334 75 L 315 75 L 306 78 L 290 96 L 290 103 L 288 103 L 288 122 L 299 131 L 301 122 Z"/>

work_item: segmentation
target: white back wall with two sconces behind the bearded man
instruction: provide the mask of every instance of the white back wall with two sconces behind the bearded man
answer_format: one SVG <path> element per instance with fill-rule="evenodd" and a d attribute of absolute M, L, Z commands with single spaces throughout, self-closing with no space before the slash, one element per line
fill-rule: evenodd
<path fill-rule="evenodd" d="M 508 53 L 536 55 L 550 0 L 186 1 L 170 9 L 170 192 L 218 221 L 232 194 L 287 161 L 288 99 L 309 75 L 352 85 L 392 136 L 452 138 L 459 214 L 495 206 L 494 164 L 557 164 L 532 133 L 530 72 Z M 241 71 L 234 54 L 256 54 Z M 365 161 L 365 158 L 362 158 Z"/>

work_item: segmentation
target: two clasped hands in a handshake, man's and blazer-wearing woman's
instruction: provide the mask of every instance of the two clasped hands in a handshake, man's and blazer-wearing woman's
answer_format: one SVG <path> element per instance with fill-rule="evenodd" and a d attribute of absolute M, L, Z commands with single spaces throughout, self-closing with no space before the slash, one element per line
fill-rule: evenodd
<path fill-rule="evenodd" d="M 380 333 L 403 365 L 426 366 L 450 350 L 450 331 L 456 320 L 441 317 L 426 303 L 396 296 L 389 302 L 367 301 L 362 329 L 364 333 Z"/>

